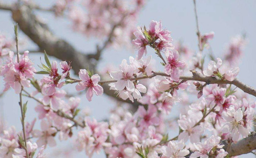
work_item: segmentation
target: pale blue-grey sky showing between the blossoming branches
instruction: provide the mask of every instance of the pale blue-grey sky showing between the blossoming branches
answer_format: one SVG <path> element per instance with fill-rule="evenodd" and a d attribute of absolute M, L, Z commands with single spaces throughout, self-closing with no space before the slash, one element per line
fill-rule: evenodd
<path fill-rule="evenodd" d="M 0 0 L 1 1 L 1 0 Z M 3 0 L 2 0 L 3 1 Z M 3 2 L 14 2 L 13 0 Z M 36 0 L 40 6 L 51 6 L 53 0 Z M 231 37 L 238 34 L 246 34 L 248 44 L 244 49 L 244 55 L 239 65 L 240 73 L 238 78 L 240 81 L 256 87 L 256 62 L 255 62 L 255 44 L 256 44 L 256 1 L 247 0 L 216 0 L 197 1 L 199 28 L 201 33 L 207 33 L 210 31 L 215 32 L 215 37 L 210 41 L 210 45 L 216 57 L 222 57 L 225 52 L 225 47 L 228 44 Z M 55 18 L 52 14 L 46 12 L 37 12 L 42 18 L 46 20 L 50 29 L 59 37 L 69 41 L 74 47 L 83 51 L 95 50 L 95 39 L 89 39 L 79 33 L 75 33 L 71 29 L 71 23 L 66 18 Z M 193 1 L 180 0 L 150 0 L 143 8 L 138 25 L 148 25 L 151 20 L 161 20 L 164 28 L 172 31 L 172 37 L 175 41 L 182 40 L 193 50 L 198 50 L 198 41 L 196 36 L 196 21 L 194 15 Z M 13 21 L 11 13 L 8 11 L 0 10 L 0 31 L 8 35 L 13 35 Z M 24 37 L 24 35 L 21 35 Z M 36 45 L 28 41 L 28 44 L 24 49 L 33 50 L 36 49 Z M 207 51 L 206 51 L 207 52 Z M 108 49 L 103 52 L 102 62 L 99 64 L 98 69 L 102 69 L 104 65 L 108 63 L 114 63 L 119 65 L 122 59 L 129 59 L 129 56 L 135 56 L 136 51 L 126 49 Z M 154 56 L 154 55 L 153 55 Z M 41 54 L 33 54 L 31 58 L 37 62 Z M 115 57 L 115 58 L 113 58 Z M 54 58 L 50 58 L 54 60 Z M 0 80 L 0 82 L 3 82 Z M 3 84 L 0 84 L 0 89 L 3 89 Z M 66 89 L 73 89 L 73 87 L 67 87 Z M 74 91 L 73 91 L 74 92 Z M 18 106 L 18 95 L 13 90 L 9 90 L 4 97 L 0 98 L 0 114 L 4 117 L 8 125 L 14 125 L 17 129 L 21 129 L 20 126 L 20 111 Z M 27 98 L 25 98 L 26 100 Z M 32 120 L 37 117 L 34 112 L 36 103 L 29 100 L 28 112 L 26 120 Z M 86 100 L 84 95 L 81 96 L 80 107 L 89 107 L 92 111 L 92 116 L 98 120 L 102 120 L 108 117 L 109 110 L 113 107 L 113 102 L 106 96 L 95 97 L 93 101 Z M 174 112 L 175 113 L 175 112 Z M 37 122 L 36 128 L 39 128 Z M 66 147 L 69 142 L 61 142 L 58 147 L 53 148 L 56 150 L 61 147 Z M 52 152 L 47 150 L 47 152 Z M 78 153 L 74 157 L 86 157 L 84 153 Z M 93 158 L 105 157 L 103 153 L 99 155 L 95 154 Z M 252 155 L 241 156 L 252 157 Z"/>

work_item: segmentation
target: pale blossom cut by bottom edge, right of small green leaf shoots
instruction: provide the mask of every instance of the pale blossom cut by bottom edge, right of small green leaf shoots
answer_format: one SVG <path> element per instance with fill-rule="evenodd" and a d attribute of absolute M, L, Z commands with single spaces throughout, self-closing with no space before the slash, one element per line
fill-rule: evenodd
<path fill-rule="evenodd" d="M 189 151 L 184 148 L 185 143 L 181 141 L 169 141 L 167 146 L 162 146 L 161 151 L 166 157 L 185 158 Z"/>

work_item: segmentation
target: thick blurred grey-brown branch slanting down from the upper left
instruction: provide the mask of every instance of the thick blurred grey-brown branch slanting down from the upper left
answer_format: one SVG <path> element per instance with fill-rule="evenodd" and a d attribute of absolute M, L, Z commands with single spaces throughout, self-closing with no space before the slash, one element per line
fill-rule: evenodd
<path fill-rule="evenodd" d="M 95 64 L 86 54 L 76 50 L 69 42 L 55 36 L 50 31 L 48 25 L 36 17 L 32 12 L 32 8 L 26 5 L 22 5 L 17 8 L 15 6 L 12 7 L 10 5 L 3 5 L 0 3 L 0 8 L 1 6 L 2 8 L 5 7 L 12 11 L 13 20 L 19 24 L 20 30 L 22 30 L 35 44 L 38 45 L 39 50 L 46 50 L 48 55 L 62 61 L 71 61 L 71 66 L 77 75 L 79 70 L 82 68 L 89 68 L 90 70 L 97 72 L 95 70 Z M 107 44 L 108 42 L 106 42 L 106 44 L 104 44 L 105 46 L 103 45 L 102 48 L 104 49 Z M 103 50 L 101 49 L 100 52 Z M 124 101 L 118 98 L 113 91 L 110 91 L 108 85 L 103 85 L 102 87 L 104 89 L 104 94 L 116 98 L 119 101 L 132 103 L 131 101 Z M 138 102 L 134 102 L 132 104 L 134 107 L 138 107 L 139 105 Z"/>

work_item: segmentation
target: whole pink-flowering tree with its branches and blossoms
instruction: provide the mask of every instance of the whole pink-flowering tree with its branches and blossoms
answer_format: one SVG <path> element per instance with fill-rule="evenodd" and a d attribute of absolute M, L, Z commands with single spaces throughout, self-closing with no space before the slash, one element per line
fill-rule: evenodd
<path fill-rule="evenodd" d="M 21 131 L 14 126 L 0 130 L 1 157 L 46 157 L 44 149 L 56 146 L 56 139 L 74 139 L 76 149 L 89 157 L 103 150 L 109 158 L 221 158 L 256 149 L 255 101 L 250 98 L 256 96 L 256 90 L 236 78 L 245 39 L 233 38 L 222 59 L 211 55 L 211 61 L 205 63 L 203 53 L 214 33 L 200 33 L 195 0 L 199 50 L 194 56 L 186 46 L 173 43 L 161 21 L 136 30 L 137 15 L 144 5 L 143 0 L 58 0 L 46 9 L 31 1 L 0 3 L 0 9 L 11 11 L 18 23 L 14 26 L 15 41 L 0 35 L 0 75 L 4 92 L 13 89 L 19 95 L 22 123 Z M 51 33 L 33 10 L 56 16 L 68 13 L 75 31 L 105 41 L 96 46 L 94 54 L 83 54 Z M 19 53 L 18 28 L 38 45 L 38 52 L 44 53 L 38 67 L 29 51 Z M 137 56 L 122 59 L 118 68 L 108 68 L 106 73 L 96 70 L 106 47 L 131 44 L 137 48 Z M 148 49 L 155 54 L 147 53 Z M 62 61 L 50 61 L 48 55 Z M 160 70 L 152 62 L 156 58 L 161 59 Z M 71 70 L 79 78 L 72 76 Z M 80 112 L 80 98 L 62 89 L 69 84 L 86 92 L 84 97 L 89 101 L 105 93 L 130 103 L 132 111 L 119 104 L 107 121 L 97 121 Z M 34 129 L 35 120 L 25 119 L 30 102 L 24 102 L 24 97 L 37 102 L 40 129 Z M 170 120 L 167 116 L 174 106 L 182 106 L 183 111 L 179 118 Z M 168 124 L 176 122 L 177 135 L 169 138 L 167 132 L 175 127 L 168 128 Z"/>

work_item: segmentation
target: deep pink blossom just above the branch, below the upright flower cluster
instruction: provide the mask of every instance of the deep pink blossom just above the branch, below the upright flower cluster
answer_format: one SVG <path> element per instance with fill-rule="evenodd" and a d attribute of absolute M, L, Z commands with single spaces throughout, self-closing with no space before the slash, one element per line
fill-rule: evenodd
<path fill-rule="evenodd" d="M 177 50 L 166 51 L 167 64 L 164 67 L 166 73 L 170 74 L 170 77 L 174 81 L 179 81 L 182 70 L 178 68 L 184 68 L 185 62 L 179 61 L 179 52 Z"/>

